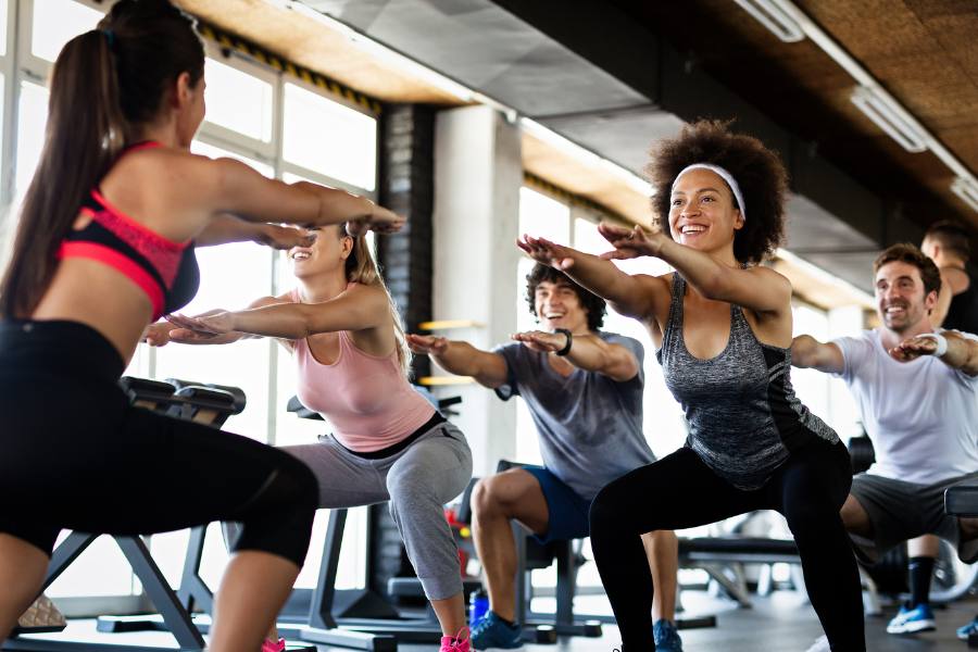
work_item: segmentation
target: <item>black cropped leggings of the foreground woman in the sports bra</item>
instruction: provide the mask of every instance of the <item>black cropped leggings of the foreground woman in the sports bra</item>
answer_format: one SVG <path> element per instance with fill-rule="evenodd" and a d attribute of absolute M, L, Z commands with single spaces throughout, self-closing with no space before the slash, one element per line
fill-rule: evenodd
<path fill-rule="evenodd" d="M 247 437 L 129 405 L 118 353 L 75 322 L 0 323 L 0 532 L 148 535 L 238 521 L 236 550 L 305 560 L 315 476 Z"/>

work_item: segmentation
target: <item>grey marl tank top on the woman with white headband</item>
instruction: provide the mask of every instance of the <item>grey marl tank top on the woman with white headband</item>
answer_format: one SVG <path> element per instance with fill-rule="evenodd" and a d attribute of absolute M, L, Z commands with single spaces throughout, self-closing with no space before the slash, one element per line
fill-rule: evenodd
<path fill-rule="evenodd" d="M 686 279 L 673 275 L 673 300 L 662 349 L 666 387 L 689 422 L 686 446 L 738 489 L 757 489 L 791 453 L 812 441 L 841 446 L 791 387 L 791 349 L 761 343 L 739 305 L 730 304 L 727 348 L 711 360 L 682 338 Z"/>

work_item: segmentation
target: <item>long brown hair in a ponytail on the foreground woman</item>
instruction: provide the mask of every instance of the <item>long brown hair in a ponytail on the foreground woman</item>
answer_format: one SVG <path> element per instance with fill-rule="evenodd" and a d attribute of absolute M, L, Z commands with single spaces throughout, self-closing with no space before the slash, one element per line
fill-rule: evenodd
<path fill-rule="evenodd" d="M 193 84 L 200 80 L 203 61 L 192 21 L 167 0 L 121 0 L 98 29 L 61 50 L 43 149 L 0 284 L 0 316 L 34 311 L 85 197 L 138 128 L 159 115 L 176 78 L 188 72 Z"/>

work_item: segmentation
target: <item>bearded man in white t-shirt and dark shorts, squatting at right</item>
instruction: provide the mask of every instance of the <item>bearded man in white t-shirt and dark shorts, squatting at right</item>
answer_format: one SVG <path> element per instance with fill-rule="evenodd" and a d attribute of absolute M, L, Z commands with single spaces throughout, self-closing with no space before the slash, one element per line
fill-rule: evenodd
<path fill-rule="evenodd" d="M 856 399 L 876 463 L 853 478 L 842 521 L 858 556 L 933 534 L 978 557 L 978 519 L 944 513 L 944 489 L 978 477 L 978 336 L 935 329 L 930 311 L 940 271 L 913 244 L 894 244 L 874 264 L 879 328 L 791 346 L 792 364 L 841 377 Z M 911 603 L 887 631 L 935 628 L 927 604 L 932 557 L 911 560 Z M 928 564 L 929 562 L 929 564 Z"/>

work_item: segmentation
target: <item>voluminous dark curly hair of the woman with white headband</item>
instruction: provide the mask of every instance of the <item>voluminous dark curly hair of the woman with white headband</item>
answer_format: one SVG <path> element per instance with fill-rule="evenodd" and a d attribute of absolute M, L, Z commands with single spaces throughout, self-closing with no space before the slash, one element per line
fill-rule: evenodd
<path fill-rule="evenodd" d="M 741 263 L 760 263 L 773 254 L 785 237 L 785 192 L 788 173 L 777 154 L 752 136 L 731 134 L 729 122 L 700 121 L 682 127 L 679 136 L 652 149 L 645 167 L 655 193 L 655 223 L 669 237 L 669 204 L 676 176 L 693 163 L 711 163 L 727 170 L 740 186 L 749 206 L 743 228 L 734 235 L 734 256 Z M 739 209 L 737 200 L 734 206 Z"/>

